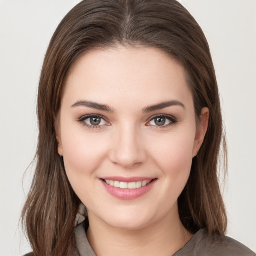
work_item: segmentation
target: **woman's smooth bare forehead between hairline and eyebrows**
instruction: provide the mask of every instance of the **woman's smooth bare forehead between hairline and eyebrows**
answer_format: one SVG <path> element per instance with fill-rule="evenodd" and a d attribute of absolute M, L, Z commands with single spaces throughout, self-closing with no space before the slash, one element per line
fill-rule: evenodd
<path fill-rule="evenodd" d="M 97 49 L 79 57 L 69 70 L 63 101 L 142 104 L 182 100 L 191 103 L 185 70 L 155 48 Z"/>

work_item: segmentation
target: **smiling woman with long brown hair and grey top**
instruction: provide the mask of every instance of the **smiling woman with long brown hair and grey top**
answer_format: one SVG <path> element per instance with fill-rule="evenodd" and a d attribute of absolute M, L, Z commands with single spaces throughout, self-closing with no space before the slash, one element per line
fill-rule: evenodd
<path fill-rule="evenodd" d="M 178 2 L 76 5 L 49 44 L 37 107 L 23 209 L 34 255 L 255 255 L 224 236 L 218 88 Z"/>

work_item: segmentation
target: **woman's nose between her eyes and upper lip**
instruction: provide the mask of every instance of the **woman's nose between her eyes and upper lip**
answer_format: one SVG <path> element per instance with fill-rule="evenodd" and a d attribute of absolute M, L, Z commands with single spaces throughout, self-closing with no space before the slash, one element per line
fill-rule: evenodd
<path fill-rule="evenodd" d="M 136 128 L 120 127 L 113 134 L 109 158 L 114 164 L 132 168 L 145 162 L 147 155 L 140 133 Z"/>

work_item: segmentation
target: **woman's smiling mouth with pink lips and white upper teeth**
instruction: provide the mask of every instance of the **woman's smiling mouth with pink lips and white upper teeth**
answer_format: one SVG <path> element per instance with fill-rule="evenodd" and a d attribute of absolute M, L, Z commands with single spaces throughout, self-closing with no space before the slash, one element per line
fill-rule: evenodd
<path fill-rule="evenodd" d="M 116 180 L 118 179 L 118 180 Z M 147 193 L 157 178 L 103 178 L 100 179 L 106 191 L 118 199 L 132 200 Z"/>

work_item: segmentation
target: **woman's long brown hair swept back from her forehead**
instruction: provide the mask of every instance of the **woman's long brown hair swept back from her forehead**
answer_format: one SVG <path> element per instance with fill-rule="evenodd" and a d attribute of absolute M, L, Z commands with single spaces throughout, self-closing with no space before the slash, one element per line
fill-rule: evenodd
<path fill-rule="evenodd" d="M 206 38 L 190 13 L 175 0 L 84 0 L 60 22 L 47 49 L 38 88 L 37 166 L 22 218 L 34 255 L 69 255 L 80 200 L 57 152 L 55 120 L 65 77 L 74 61 L 95 47 L 141 45 L 161 49 L 187 72 L 196 119 L 209 108 L 208 130 L 193 158 L 178 198 L 180 219 L 192 233 L 200 228 L 224 234 L 226 213 L 217 165 L 222 118 L 215 71 Z"/>

